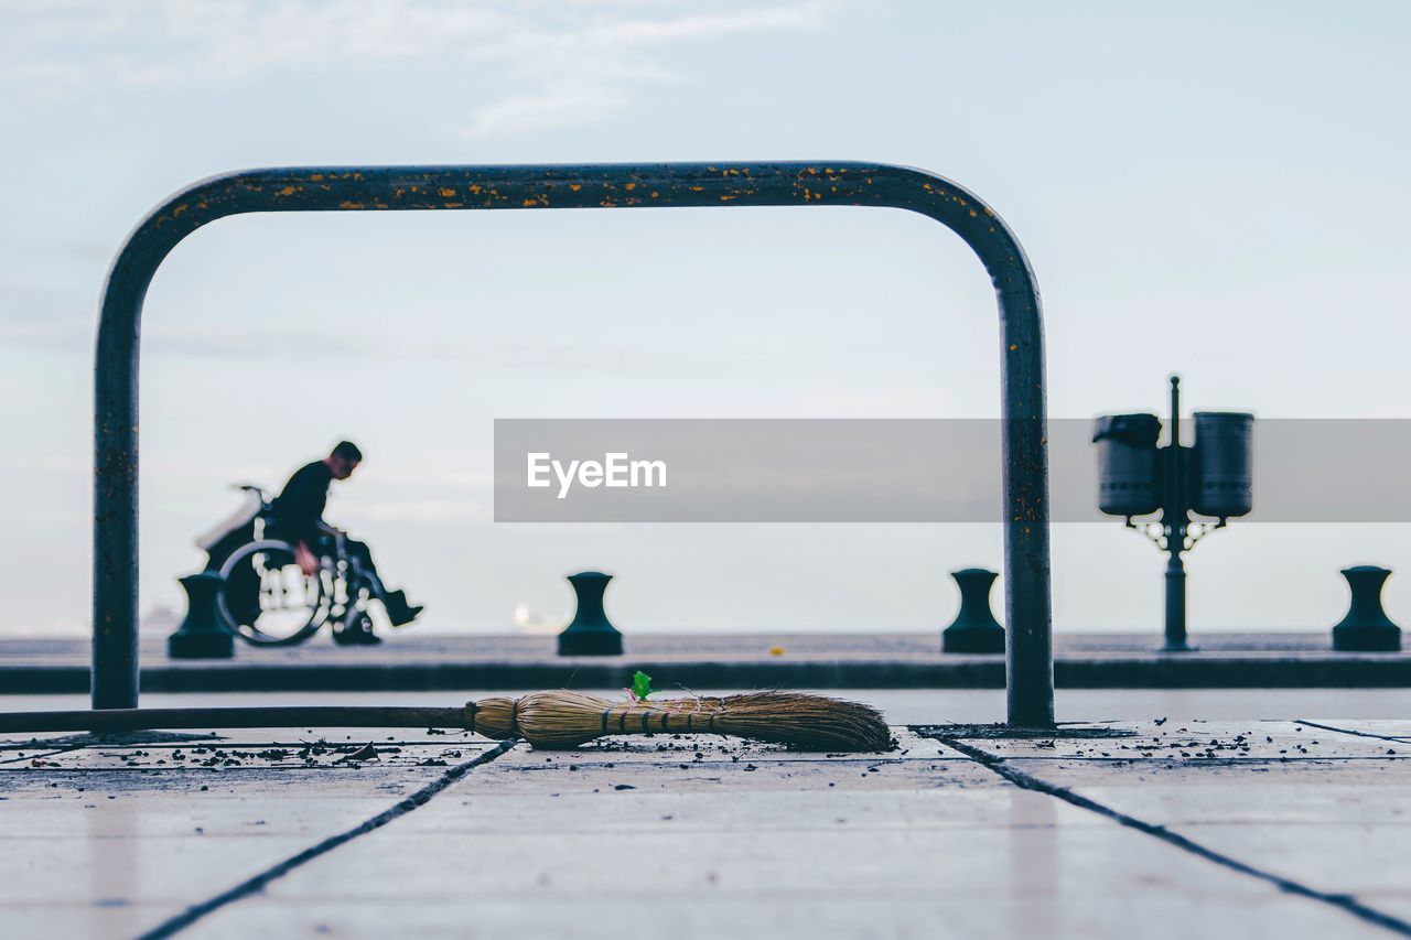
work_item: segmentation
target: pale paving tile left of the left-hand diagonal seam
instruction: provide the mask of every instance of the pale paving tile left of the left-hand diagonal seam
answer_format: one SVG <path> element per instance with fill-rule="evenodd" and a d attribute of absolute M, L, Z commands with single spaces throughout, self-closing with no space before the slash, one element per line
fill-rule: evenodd
<path fill-rule="evenodd" d="M 395 765 L 0 772 L 0 917 L 13 913 L 0 933 L 147 930 L 444 773 Z"/>

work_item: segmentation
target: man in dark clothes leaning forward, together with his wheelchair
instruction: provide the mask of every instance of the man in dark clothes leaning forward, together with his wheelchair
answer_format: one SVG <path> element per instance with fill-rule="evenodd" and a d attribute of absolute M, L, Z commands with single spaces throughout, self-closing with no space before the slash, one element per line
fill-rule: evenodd
<path fill-rule="evenodd" d="M 226 608 L 230 610 L 229 617 L 234 621 L 233 627 L 238 632 L 254 641 L 261 637 L 258 628 L 243 629 L 240 627 L 241 624 L 254 624 L 260 615 L 261 583 L 260 576 L 248 563 L 233 565 L 233 562 L 243 562 L 243 553 L 272 545 L 271 541 L 286 543 L 286 548 L 293 546 L 293 562 L 305 579 L 319 576 L 322 559 L 339 559 L 347 563 L 347 570 L 356 572 L 354 583 L 350 586 L 351 593 L 356 596 L 360 590 L 365 590 L 373 598 L 380 600 L 394 627 L 409 624 L 422 613 L 420 605 L 408 603 L 405 591 L 387 589 L 365 543 L 347 538 L 341 531 L 323 521 L 329 484 L 351 477 L 361 460 L 363 453 L 357 445 L 344 440 L 327 457 L 295 470 L 279 495 L 261 505 L 257 518 L 262 519 L 264 542 L 251 542 L 254 538 L 254 519 L 251 519 L 226 531 L 212 543 L 203 545 L 210 553 L 209 570 L 222 570 L 227 576 L 223 600 Z M 244 488 L 257 491 L 255 487 Z M 350 603 L 356 597 L 350 598 Z M 298 635 L 285 639 L 298 642 L 303 635 L 316 631 L 319 622 L 322 620 L 312 620 Z M 265 642 L 271 639 L 274 638 L 265 638 Z M 350 645 L 381 642 L 373 632 L 371 620 L 365 615 L 336 618 L 333 639 Z"/>

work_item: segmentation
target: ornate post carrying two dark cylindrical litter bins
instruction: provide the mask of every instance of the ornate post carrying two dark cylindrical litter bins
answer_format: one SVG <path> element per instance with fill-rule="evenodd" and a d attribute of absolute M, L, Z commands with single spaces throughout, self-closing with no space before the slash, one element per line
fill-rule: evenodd
<path fill-rule="evenodd" d="M 1195 412 L 1195 440 L 1181 443 L 1181 377 L 1171 375 L 1170 442 L 1157 447 L 1156 415 L 1103 415 L 1092 440 L 1098 445 L 1098 508 L 1126 518 L 1168 555 L 1165 563 L 1164 652 L 1189 652 L 1185 632 L 1184 552 L 1253 508 L 1254 415 L 1233 411 Z M 1160 511 L 1160 518 L 1133 522 Z M 1191 514 L 1213 522 L 1197 521 Z"/>

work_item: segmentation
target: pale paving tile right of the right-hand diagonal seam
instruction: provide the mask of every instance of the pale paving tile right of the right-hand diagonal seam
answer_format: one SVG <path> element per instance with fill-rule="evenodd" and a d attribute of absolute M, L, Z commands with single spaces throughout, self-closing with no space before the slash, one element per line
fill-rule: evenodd
<path fill-rule="evenodd" d="M 1257 740 L 1235 727 L 1202 728 L 1206 744 L 1226 745 L 1216 754 L 1229 754 L 1236 742 L 1235 755 L 1221 759 L 1195 755 L 1187 741 L 1177 741 L 1187 754 L 1171 759 L 1171 748 L 1153 747 L 1150 737 L 1141 742 L 1160 757 L 1086 757 L 1094 747 L 1110 752 L 1108 740 L 978 747 L 1048 785 L 1260 871 L 1325 893 L 1364 902 L 1377 896 L 1393 906 L 1388 913 L 1403 909 L 1401 892 L 1411 893 L 1411 754 L 1387 754 L 1381 738 L 1301 723 L 1261 723 Z M 1055 757 L 1038 757 L 1041 751 Z"/>

